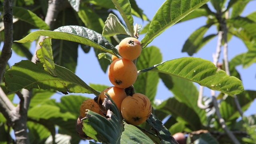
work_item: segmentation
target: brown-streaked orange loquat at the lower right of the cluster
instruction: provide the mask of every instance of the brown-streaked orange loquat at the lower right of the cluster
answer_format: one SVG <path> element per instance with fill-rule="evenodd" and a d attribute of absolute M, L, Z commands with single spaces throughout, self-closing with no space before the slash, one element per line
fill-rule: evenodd
<path fill-rule="evenodd" d="M 124 120 L 132 125 L 139 125 L 146 121 L 152 112 L 148 97 L 135 93 L 127 96 L 121 104 L 121 114 Z"/>

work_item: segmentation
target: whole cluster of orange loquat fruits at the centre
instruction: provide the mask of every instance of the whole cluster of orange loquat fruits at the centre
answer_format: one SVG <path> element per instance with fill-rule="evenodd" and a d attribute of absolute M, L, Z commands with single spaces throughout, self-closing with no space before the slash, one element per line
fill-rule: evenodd
<path fill-rule="evenodd" d="M 85 100 L 80 106 L 80 116 L 77 119 L 77 132 L 79 136 L 90 139 L 82 130 L 82 118 L 86 117 L 87 110 L 106 116 L 106 110 L 102 105 L 106 94 L 116 104 L 123 119 L 132 125 L 139 125 L 146 121 L 152 112 L 152 106 L 147 96 L 135 93 L 132 85 L 137 79 L 138 73 L 133 60 L 141 53 L 140 41 L 136 38 L 124 38 L 118 45 L 121 58 L 112 55 L 112 63 L 108 68 L 108 78 L 114 86 L 103 90 L 94 99 Z"/>

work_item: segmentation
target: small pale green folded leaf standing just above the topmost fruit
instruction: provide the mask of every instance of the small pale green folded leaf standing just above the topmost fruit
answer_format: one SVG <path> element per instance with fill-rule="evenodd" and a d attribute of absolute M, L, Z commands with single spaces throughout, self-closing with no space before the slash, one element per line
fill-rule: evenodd
<path fill-rule="evenodd" d="M 121 24 L 120 20 L 118 20 L 114 14 L 109 14 L 105 22 L 102 35 L 114 36 L 116 34 L 126 34 L 128 36 L 132 36 L 129 30 L 123 24 Z"/>

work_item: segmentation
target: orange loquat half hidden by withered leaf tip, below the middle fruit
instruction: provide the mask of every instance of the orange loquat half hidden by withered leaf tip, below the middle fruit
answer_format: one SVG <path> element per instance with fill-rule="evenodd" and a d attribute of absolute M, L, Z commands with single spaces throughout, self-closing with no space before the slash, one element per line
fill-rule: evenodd
<path fill-rule="evenodd" d="M 106 98 L 106 95 L 104 93 L 108 93 L 110 98 L 115 102 L 118 110 L 121 110 L 121 104 L 124 98 L 126 98 L 126 93 L 123 88 L 118 88 L 116 86 L 111 86 L 109 88 L 106 88 L 103 90 L 98 98 L 98 104 L 104 102 L 104 98 Z"/>

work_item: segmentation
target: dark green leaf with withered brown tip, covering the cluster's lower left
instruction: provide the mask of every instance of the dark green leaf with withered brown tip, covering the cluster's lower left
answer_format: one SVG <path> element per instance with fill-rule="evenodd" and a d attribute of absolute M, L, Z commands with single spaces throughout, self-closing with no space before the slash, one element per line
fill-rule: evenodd
<path fill-rule="evenodd" d="M 110 98 L 110 96 L 108 96 Z M 110 99 L 111 100 L 111 99 Z M 87 117 L 83 119 L 83 132 L 99 142 L 107 144 L 120 143 L 123 131 L 123 120 L 116 104 L 111 100 L 111 110 L 108 110 L 108 119 L 88 110 Z"/>

